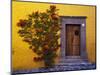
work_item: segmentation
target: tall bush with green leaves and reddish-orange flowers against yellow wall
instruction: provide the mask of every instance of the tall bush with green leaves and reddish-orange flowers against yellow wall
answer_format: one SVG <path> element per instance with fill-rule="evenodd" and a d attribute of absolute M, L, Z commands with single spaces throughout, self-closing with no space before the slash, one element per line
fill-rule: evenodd
<path fill-rule="evenodd" d="M 33 12 L 28 15 L 28 19 L 21 19 L 17 23 L 20 27 L 19 35 L 23 37 L 23 41 L 29 44 L 29 48 L 38 55 L 33 60 L 35 62 L 43 60 L 45 67 L 54 65 L 54 59 L 60 47 L 58 31 L 61 27 L 57 11 L 56 6 L 51 5 L 46 12 Z"/>

